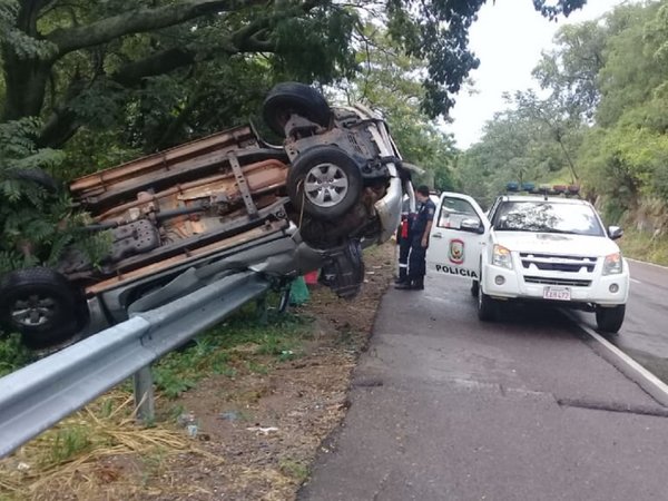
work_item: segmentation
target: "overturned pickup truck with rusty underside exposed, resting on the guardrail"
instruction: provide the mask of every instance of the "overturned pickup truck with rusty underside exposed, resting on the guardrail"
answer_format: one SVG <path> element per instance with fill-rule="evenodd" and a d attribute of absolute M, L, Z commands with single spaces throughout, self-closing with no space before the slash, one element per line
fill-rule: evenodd
<path fill-rule="evenodd" d="M 286 299 L 294 277 L 323 268 L 353 297 L 362 248 L 392 235 L 403 194 L 413 196 L 387 127 L 294 82 L 272 90 L 263 115 L 283 146 L 237 127 L 72 181 L 89 229 L 108 232 L 109 254 L 94 266 L 72 248 L 55 268 L 2 277 L 4 327 L 48 345 L 246 269 Z"/>

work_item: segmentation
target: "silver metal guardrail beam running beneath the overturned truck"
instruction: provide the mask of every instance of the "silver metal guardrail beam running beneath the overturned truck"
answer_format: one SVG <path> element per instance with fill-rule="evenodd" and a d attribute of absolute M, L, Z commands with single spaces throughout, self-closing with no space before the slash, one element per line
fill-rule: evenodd
<path fill-rule="evenodd" d="M 268 288 L 254 272 L 227 276 L 0 379 L 0 456 Z"/>

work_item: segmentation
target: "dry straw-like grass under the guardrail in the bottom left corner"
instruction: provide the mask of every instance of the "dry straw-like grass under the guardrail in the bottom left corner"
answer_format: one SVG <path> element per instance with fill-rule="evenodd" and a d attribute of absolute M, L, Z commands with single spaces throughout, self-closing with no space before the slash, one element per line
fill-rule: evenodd
<path fill-rule="evenodd" d="M 137 424 L 132 402 L 120 391 L 105 395 L 2 460 L 0 499 L 130 499 L 156 477 L 177 491 L 169 459 L 208 454 L 181 430 Z"/>

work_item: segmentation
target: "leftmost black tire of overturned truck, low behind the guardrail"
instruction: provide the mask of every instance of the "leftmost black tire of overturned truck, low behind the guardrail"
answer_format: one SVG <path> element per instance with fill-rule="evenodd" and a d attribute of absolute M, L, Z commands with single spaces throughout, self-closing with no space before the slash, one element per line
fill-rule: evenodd
<path fill-rule="evenodd" d="M 72 336 L 82 327 L 84 299 L 58 272 L 26 268 L 0 282 L 0 323 L 19 332 L 31 345 L 47 346 Z"/>

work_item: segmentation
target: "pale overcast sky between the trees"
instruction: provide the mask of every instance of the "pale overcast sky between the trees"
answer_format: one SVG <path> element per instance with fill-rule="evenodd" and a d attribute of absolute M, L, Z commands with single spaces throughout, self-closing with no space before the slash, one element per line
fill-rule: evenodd
<path fill-rule="evenodd" d="M 454 121 L 445 126 L 456 146 L 465 149 L 480 139 L 484 122 L 507 107 L 504 91 L 537 87 L 531 70 L 541 51 L 552 47 L 559 27 L 599 18 L 621 2 L 588 0 L 568 18 L 550 22 L 531 0 L 488 0 L 470 30 L 470 48 L 480 59 L 480 67 L 470 73 L 475 94 L 465 88 L 460 91 L 450 114 Z"/>

